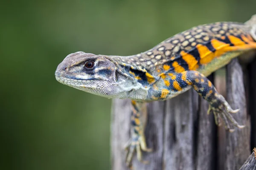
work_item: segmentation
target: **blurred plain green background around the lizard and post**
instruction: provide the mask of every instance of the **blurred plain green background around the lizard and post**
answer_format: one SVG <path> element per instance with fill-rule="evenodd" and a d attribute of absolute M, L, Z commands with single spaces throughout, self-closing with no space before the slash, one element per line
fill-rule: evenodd
<path fill-rule="evenodd" d="M 256 0 L 1 1 L 0 169 L 110 169 L 111 100 L 55 80 L 68 54 L 137 54 L 253 14 Z"/>

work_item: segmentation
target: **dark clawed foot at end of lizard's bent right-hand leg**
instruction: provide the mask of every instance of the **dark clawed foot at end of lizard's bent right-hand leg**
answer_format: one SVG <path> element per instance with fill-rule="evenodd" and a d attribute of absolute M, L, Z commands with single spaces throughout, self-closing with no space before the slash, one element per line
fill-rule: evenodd
<path fill-rule="evenodd" d="M 209 105 L 208 114 L 213 113 L 215 124 L 220 126 L 221 125 L 221 119 L 224 121 L 225 129 L 229 130 L 230 132 L 234 132 L 234 129 L 230 127 L 230 123 L 233 126 L 238 127 L 239 129 L 244 128 L 244 125 L 239 125 L 238 122 L 233 118 L 231 113 L 237 113 L 239 109 L 233 110 L 230 105 L 224 100 L 223 102 L 219 103 L 218 106 L 216 105 Z M 229 121 L 228 121 L 229 120 Z"/>

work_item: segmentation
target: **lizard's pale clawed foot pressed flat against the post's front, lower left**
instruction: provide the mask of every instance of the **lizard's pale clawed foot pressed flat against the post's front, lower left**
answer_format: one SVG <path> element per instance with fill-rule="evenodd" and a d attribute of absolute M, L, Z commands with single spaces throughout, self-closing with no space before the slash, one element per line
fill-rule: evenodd
<path fill-rule="evenodd" d="M 125 150 L 127 150 L 126 155 L 126 166 L 132 169 L 131 160 L 134 155 L 135 150 L 137 151 L 137 159 L 140 162 L 143 162 L 144 164 L 147 164 L 148 161 L 143 161 L 142 159 L 142 152 L 141 150 L 145 152 L 151 152 L 152 149 L 148 148 L 145 142 L 145 136 L 144 135 L 133 135 L 131 139 L 127 142 L 125 145 Z"/>

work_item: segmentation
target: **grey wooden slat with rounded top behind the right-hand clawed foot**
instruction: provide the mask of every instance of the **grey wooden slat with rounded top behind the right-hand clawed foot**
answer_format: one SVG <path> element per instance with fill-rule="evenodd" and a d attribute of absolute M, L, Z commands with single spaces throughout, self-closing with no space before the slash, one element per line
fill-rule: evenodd
<path fill-rule="evenodd" d="M 233 117 L 243 129 L 236 128 L 233 133 L 226 133 L 225 170 L 238 170 L 250 155 L 250 119 L 246 109 L 243 72 L 238 59 L 227 65 L 227 102 L 233 109 L 240 109 Z"/>

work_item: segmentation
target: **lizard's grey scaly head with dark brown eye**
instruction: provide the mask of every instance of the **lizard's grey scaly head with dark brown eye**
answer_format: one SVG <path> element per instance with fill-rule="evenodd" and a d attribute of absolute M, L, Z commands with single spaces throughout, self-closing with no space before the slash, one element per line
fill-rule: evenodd
<path fill-rule="evenodd" d="M 69 54 L 58 65 L 55 77 L 64 85 L 108 98 L 119 92 L 116 66 L 103 55 Z"/>

